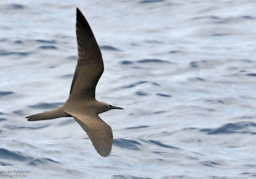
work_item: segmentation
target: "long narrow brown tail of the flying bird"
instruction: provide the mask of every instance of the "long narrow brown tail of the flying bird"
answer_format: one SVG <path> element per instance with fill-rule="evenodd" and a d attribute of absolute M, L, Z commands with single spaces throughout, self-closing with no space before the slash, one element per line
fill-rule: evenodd
<path fill-rule="evenodd" d="M 48 120 L 48 119 L 56 119 L 60 117 L 72 117 L 70 114 L 64 112 L 64 107 L 60 107 L 58 109 L 54 109 L 51 111 L 47 111 L 45 113 L 34 114 L 26 117 L 28 121 L 40 121 L 40 120 Z"/>

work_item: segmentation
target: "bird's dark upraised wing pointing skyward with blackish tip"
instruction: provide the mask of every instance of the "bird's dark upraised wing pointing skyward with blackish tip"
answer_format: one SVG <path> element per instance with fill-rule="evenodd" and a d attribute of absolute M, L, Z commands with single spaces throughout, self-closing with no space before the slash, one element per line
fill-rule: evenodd
<path fill-rule="evenodd" d="M 104 64 L 99 45 L 87 20 L 78 8 L 76 35 L 78 60 L 69 98 L 95 98 L 95 88 L 104 71 Z"/>

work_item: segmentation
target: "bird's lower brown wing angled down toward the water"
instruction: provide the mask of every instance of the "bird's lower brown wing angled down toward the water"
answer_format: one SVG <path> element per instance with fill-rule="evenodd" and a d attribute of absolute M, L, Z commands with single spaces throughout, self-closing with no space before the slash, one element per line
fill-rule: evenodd
<path fill-rule="evenodd" d="M 83 130 L 86 131 L 97 152 L 103 157 L 109 156 L 113 143 L 111 127 L 97 114 L 92 116 L 77 114 L 71 115 L 80 124 Z"/>

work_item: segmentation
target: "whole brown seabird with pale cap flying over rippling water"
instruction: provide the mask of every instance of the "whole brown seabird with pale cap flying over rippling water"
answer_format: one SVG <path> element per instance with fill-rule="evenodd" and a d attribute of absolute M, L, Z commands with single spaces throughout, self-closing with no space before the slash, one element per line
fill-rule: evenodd
<path fill-rule="evenodd" d="M 78 8 L 76 36 L 78 60 L 67 101 L 58 109 L 26 118 L 28 121 L 39 121 L 73 117 L 87 133 L 96 151 L 107 157 L 112 149 L 113 133 L 111 127 L 98 114 L 123 108 L 95 99 L 95 88 L 104 71 L 104 64 L 99 45 Z"/>

